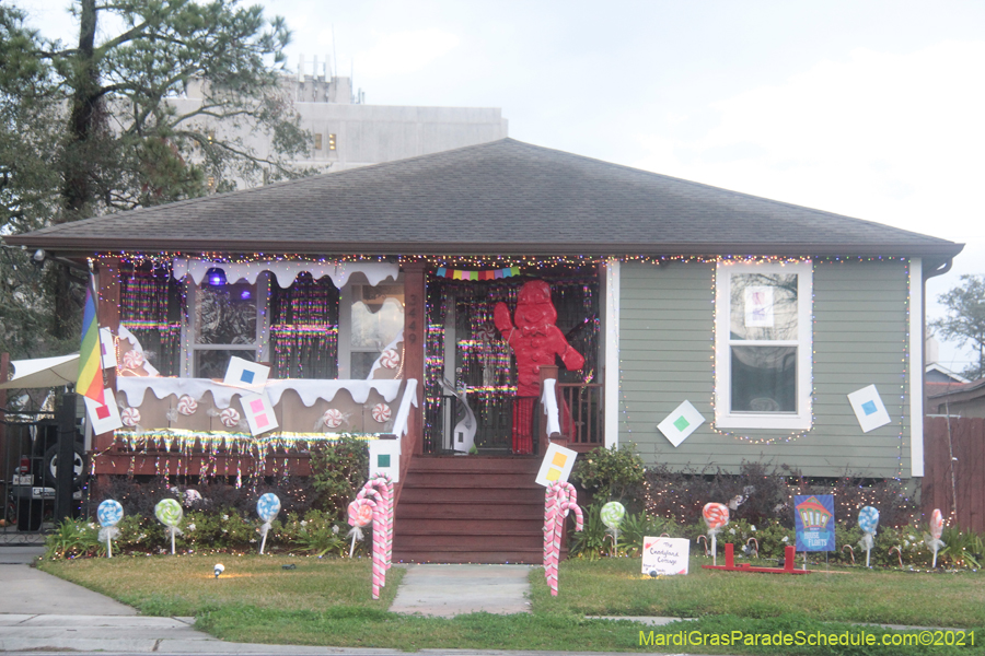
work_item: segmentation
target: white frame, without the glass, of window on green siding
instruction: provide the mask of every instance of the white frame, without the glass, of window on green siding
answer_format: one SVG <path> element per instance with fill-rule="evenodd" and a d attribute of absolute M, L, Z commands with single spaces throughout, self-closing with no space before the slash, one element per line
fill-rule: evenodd
<path fill-rule="evenodd" d="M 732 340 L 730 326 L 732 276 L 797 274 L 797 339 Z M 812 422 L 812 343 L 813 263 L 730 263 L 719 262 L 715 276 L 715 424 L 719 429 L 779 429 L 807 431 Z M 797 348 L 796 412 L 732 412 L 732 358 L 734 345 Z"/>

